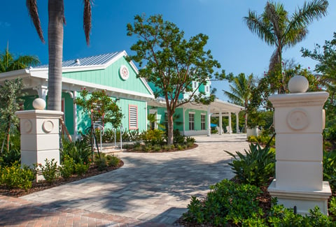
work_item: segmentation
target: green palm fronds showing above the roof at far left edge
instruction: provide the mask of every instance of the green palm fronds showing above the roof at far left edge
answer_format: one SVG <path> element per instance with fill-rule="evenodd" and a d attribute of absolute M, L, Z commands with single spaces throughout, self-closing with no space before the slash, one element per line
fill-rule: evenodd
<path fill-rule="evenodd" d="M 38 57 L 35 56 L 22 55 L 15 58 L 8 48 L 0 53 L 0 73 L 36 66 L 39 63 Z"/>

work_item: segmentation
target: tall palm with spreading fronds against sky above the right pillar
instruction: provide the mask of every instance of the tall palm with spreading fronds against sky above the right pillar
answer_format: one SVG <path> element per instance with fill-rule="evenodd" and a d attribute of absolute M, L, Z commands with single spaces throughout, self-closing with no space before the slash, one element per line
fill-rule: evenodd
<path fill-rule="evenodd" d="M 308 34 L 308 24 L 325 16 L 327 8 L 327 0 L 304 2 L 302 8 L 289 16 L 282 3 L 267 1 L 261 15 L 248 10 L 248 17 L 244 17 L 248 29 L 268 45 L 276 47 L 269 62 L 269 71 L 281 72 L 282 51 L 302 41 Z M 281 78 L 283 84 L 283 76 Z M 284 87 L 280 87 L 278 92 L 283 93 Z"/>

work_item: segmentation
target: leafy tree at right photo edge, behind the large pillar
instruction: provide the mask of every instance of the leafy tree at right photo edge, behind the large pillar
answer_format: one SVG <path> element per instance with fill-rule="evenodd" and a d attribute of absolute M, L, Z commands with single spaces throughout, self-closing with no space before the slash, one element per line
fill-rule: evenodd
<path fill-rule="evenodd" d="M 325 110 L 329 125 L 335 126 L 335 110 L 336 110 L 336 33 L 332 41 L 325 41 L 321 50 L 321 45 L 316 44 L 313 51 L 302 48 L 302 56 L 310 57 L 318 61 L 315 71 L 321 73 L 319 81 L 321 87 L 329 92 L 329 98 L 325 102 Z M 327 122 L 327 123 L 328 123 Z"/>

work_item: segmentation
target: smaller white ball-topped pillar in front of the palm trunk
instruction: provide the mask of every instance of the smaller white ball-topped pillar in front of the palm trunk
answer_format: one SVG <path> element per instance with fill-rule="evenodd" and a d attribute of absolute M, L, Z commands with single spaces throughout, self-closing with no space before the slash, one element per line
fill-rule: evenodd
<path fill-rule="evenodd" d="M 45 164 L 45 159 L 55 159 L 59 165 L 59 118 L 63 112 L 43 110 L 45 101 L 36 98 L 33 102 L 36 110 L 15 112 L 20 118 L 21 164 L 33 167 L 33 164 Z M 43 180 L 38 173 L 36 180 Z"/>

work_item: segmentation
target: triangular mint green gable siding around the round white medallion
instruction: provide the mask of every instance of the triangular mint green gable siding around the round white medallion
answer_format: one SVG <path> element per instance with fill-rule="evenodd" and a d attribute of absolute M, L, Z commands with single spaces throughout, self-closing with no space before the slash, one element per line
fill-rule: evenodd
<path fill-rule="evenodd" d="M 119 69 L 122 65 L 127 66 L 130 72 L 130 76 L 127 80 L 120 78 Z M 144 83 L 137 78 L 137 73 L 124 57 L 118 59 L 116 62 L 111 64 L 111 66 L 105 69 L 63 73 L 63 77 L 91 82 L 97 85 L 115 87 L 118 89 L 137 91 L 142 94 L 151 94 Z"/>

